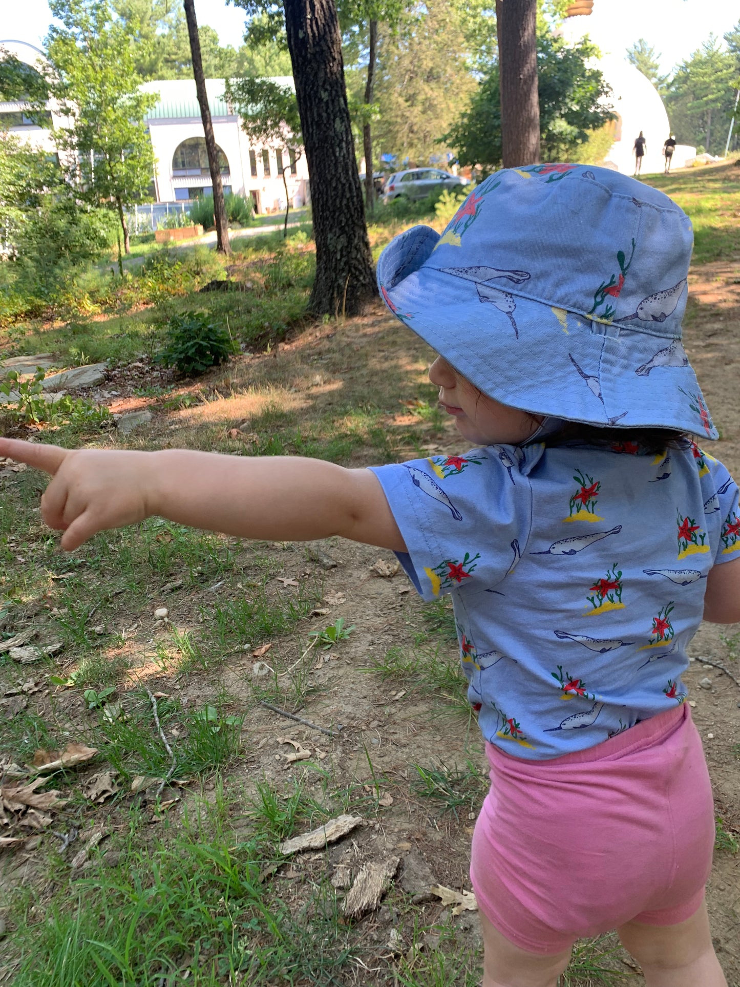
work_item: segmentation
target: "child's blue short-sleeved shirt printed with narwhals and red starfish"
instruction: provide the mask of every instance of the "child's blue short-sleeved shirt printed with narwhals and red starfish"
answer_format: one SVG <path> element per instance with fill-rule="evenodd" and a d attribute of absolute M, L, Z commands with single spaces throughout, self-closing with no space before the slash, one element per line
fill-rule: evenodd
<path fill-rule="evenodd" d="M 684 702 L 706 574 L 740 559 L 737 485 L 697 445 L 490 445 L 373 472 L 414 586 L 452 596 L 490 743 L 553 758 Z"/>

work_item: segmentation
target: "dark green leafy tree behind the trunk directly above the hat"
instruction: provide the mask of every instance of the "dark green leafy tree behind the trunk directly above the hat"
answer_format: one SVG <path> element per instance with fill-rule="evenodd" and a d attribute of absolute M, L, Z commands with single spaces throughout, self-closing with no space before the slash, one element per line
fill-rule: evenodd
<path fill-rule="evenodd" d="M 590 132 L 612 117 L 605 109 L 611 90 L 598 68 L 589 66 L 597 48 L 587 39 L 568 44 L 553 34 L 537 40 L 540 95 L 540 154 L 543 161 L 567 161 Z M 493 171 L 501 164 L 501 107 L 498 66 L 481 79 L 470 111 L 444 137 L 463 165 Z"/>

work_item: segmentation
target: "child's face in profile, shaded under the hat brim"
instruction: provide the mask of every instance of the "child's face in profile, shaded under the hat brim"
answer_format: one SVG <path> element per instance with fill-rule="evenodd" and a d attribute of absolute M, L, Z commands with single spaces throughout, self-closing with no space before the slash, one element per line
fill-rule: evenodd
<path fill-rule="evenodd" d="M 541 417 L 481 394 L 443 356 L 438 356 L 429 367 L 429 380 L 439 387 L 439 403 L 449 415 L 454 415 L 460 434 L 478 445 L 493 442 L 515 445 L 528 439 L 542 421 Z"/>

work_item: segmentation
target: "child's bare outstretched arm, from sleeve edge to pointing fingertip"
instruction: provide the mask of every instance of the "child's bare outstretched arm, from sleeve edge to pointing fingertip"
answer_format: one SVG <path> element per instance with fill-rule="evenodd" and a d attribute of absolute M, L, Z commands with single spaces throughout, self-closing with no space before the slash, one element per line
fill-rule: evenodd
<path fill-rule="evenodd" d="M 342 535 L 405 552 L 369 470 L 318 459 L 241 457 L 181 449 L 66 450 L 0 438 L 0 456 L 51 475 L 41 514 L 72 551 L 96 532 L 160 515 L 243 538 L 306 540 Z"/>

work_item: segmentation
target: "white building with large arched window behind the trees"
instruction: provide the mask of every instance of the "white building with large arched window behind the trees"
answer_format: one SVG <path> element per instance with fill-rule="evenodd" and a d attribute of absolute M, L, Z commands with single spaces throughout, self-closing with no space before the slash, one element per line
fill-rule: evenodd
<path fill-rule="evenodd" d="M 33 44 L 18 40 L 0 40 L 0 48 L 27 65 L 45 61 L 43 52 Z M 292 86 L 290 76 L 272 81 Z M 212 193 L 208 157 L 205 152 L 203 123 L 192 79 L 146 82 L 142 90 L 155 93 L 158 101 L 147 115 L 146 123 L 155 156 L 154 198 L 160 203 L 188 203 L 198 195 Z M 311 199 L 308 165 L 305 154 L 294 154 L 286 147 L 262 147 L 250 144 L 240 126 L 239 117 L 224 98 L 224 80 L 207 79 L 205 83 L 213 133 L 221 161 L 221 181 L 225 191 L 251 195 L 256 212 L 273 212 L 285 208 L 285 185 L 295 208 Z M 0 103 L 0 129 L 9 130 L 41 150 L 55 153 L 52 130 L 64 126 L 65 119 L 56 113 L 54 104 L 46 105 L 45 126 L 39 126 L 24 111 L 23 102 Z"/>

